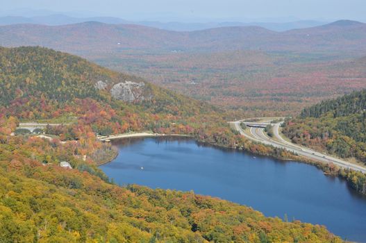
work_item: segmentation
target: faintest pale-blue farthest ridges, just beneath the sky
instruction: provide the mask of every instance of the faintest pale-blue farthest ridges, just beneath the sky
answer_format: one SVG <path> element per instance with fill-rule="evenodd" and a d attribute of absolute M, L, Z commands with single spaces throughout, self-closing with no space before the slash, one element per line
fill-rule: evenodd
<path fill-rule="evenodd" d="M 0 25 L 9 24 L 42 24 L 42 25 L 65 25 L 78 24 L 83 22 L 101 22 L 104 24 L 138 24 L 153 28 L 161 28 L 167 31 L 201 31 L 207 28 L 219 28 L 228 26 L 260 26 L 272 31 L 288 31 L 294 28 L 308 28 L 320 26 L 326 22 L 318 21 L 297 21 L 297 22 L 207 22 L 207 23 L 183 23 L 183 22 L 131 22 L 117 17 L 69 17 L 63 14 L 44 15 L 36 17 L 5 16 L 0 17 Z"/>

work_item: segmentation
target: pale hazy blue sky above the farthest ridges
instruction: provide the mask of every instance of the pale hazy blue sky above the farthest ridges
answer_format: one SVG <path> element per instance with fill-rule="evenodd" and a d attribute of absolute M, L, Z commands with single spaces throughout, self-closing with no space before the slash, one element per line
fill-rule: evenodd
<path fill-rule="evenodd" d="M 1 14 L 30 8 L 56 12 L 160 19 L 299 19 L 366 20 L 366 0 L 1 0 Z M 46 13 L 46 12 L 45 12 Z"/>

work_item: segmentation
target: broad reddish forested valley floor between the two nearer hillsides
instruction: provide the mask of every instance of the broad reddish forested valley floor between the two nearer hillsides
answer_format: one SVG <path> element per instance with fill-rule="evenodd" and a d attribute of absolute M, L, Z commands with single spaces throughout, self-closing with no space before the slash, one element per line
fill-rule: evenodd
<path fill-rule="evenodd" d="M 89 58 L 120 72 L 139 72 L 153 83 L 215 106 L 240 110 L 241 117 L 294 115 L 322 99 L 366 87 L 365 58 L 343 55 L 235 51 Z"/>

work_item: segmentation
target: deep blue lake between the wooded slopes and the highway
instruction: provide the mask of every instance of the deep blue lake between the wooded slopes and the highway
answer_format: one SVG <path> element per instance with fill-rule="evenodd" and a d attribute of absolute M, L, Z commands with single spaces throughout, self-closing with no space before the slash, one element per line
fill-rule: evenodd
<path fill-rule="evenodd" d="M 268 217 L 287 215 L 325 225 L 347 240 L 366 242 L 366 198 L 314 166 L 183 137 L 113 142 L 119 156 L 100 168 L 119 185 L 193 190 L 250 206 Z"/>

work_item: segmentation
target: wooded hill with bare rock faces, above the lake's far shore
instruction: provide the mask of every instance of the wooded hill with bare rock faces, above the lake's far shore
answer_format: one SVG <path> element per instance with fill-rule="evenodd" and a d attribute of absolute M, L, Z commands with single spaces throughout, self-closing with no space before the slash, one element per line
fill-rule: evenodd
<path fill-rule="evenodd" d="M 131 103 L 131 107 L 146 108 L 151 112 L 165 107 L 160 112 L 170 112 L 172 115 L 217 112 L 216 108 L 206 103 L 66 53 L 40 47 L 19 47 L 0 48 L 0 54 L 0 103 L 5 108 L 11 108 L 19 101 L 32 101 L 41 97 L 46 103 L 57 101 L 58 108 L 73 104 L 76 100 L 92 98 L 113 106 L 123 106 L 124 103 L 119 101 L 125 101 Z M 47 119 L 50 116 L 47 110 L 42 110 L 42 114 L 33 112 L 34 119 Z"/>

